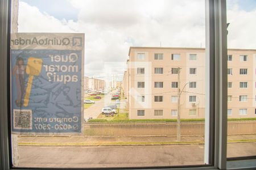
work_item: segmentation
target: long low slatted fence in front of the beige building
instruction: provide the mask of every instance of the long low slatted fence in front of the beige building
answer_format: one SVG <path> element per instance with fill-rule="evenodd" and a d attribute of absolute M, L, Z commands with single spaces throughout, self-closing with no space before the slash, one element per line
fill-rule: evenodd
<path fill-rule="evenodd" d="M 86 122 L 85 136 L 176 136 L 177 122 Z M 256 121 L 228 121 L 228 134 L 256 134 Z M 181 122 L 181 135 L 204 135 L 204 121 Z"/>

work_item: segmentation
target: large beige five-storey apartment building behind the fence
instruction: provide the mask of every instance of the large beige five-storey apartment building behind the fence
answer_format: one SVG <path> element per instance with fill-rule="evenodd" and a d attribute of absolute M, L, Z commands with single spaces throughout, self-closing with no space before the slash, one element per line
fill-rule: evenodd
<path fill-rule="evenodd" d="M 228 118 L 256 117 L 256 50 L 229 49 L 227 59 Z M 204 48 L 130 47 L 122 86 L 129 118 L 176 118 L 179 96 L 181 118 L 204 118 L 205 69 Z"/>

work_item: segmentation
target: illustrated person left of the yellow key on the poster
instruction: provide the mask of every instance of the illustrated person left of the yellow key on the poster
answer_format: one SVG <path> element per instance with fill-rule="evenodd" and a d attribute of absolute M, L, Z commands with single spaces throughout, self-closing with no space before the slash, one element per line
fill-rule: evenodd
<path fill-rule="evenodd" d="M 15 100 L 15 104 L 18 107 L 22 106 L 22 99 L 25 91 L 24 84 L 24 74 L 25 74 L 26 66 L 24 66 L 24 61 L 22 57 L 16 58 L 16 65 L 13 69 L 13 75 L 15 75 L 16 80 L 16 90 L 17 90 L 17 99 Z"/>

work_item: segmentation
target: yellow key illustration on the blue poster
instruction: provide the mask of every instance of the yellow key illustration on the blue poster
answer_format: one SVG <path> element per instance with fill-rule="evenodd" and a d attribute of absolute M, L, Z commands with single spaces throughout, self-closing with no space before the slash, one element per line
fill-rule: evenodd
<path fill-rule="evenodd" d="M 40 58 L 30 57 L 27 60 L 26 73 L 28 74 L 28 82 L 26 94 L 24 96 L 24 107 L 27 107 L 30 100 L 30 92 L 34 76 L 38 76 L 41 73 L 43 60 Z"/>

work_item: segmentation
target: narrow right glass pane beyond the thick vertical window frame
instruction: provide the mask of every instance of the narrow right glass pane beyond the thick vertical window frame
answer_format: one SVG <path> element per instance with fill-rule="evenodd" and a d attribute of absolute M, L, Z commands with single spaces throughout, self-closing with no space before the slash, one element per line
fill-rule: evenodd
<path fill-rule="evenodd" d="M 256 155 L 255 1 L 227 1 L 228 158 Z"/>

